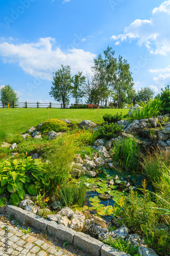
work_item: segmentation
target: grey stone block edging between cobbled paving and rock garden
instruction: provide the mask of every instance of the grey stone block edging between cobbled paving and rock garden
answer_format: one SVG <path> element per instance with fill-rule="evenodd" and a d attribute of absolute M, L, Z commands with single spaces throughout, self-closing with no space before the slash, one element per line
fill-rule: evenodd
<path fill-rule="evenodd" d="M 0 207 L 0 214 L 4 213 L 4 207 Z M 27 222 L 29 226 L 35 227 L 48 236 L 56 237 L 60 240 L 66 240 L 75 246 L 81 247 L 92 256 L 130 256 L 123 251 L 119 251 L 101 241 L 90 237 L 83 232 L 76 232 L 75 230 L 65 227 L 55 221 L 46 220 L 38 215 L 33 214 L 22 208 L 8 205 L 8 215 L 14 215 L 16 220 L 21 223 Z"/>

